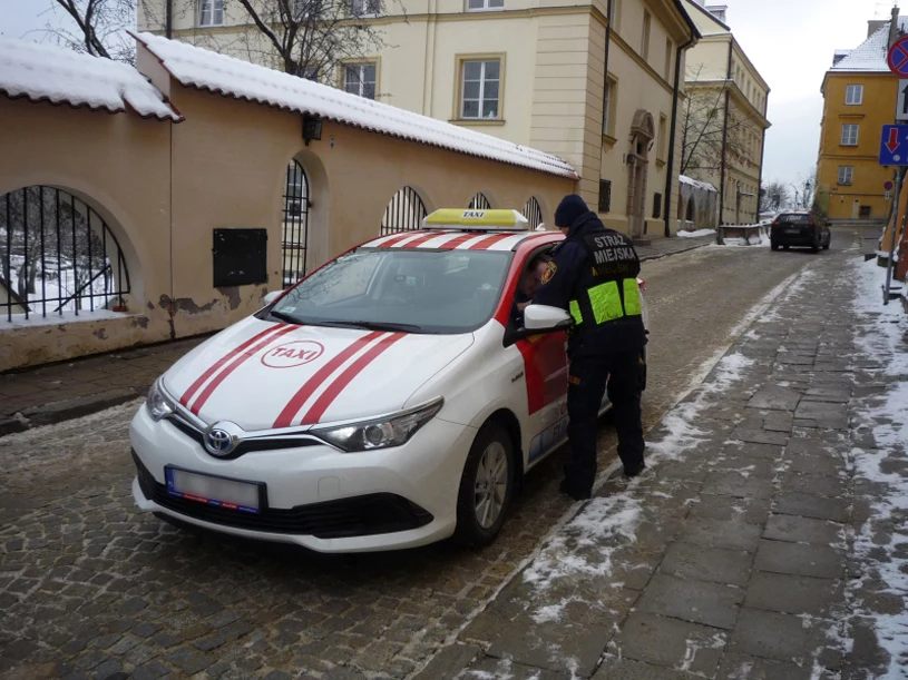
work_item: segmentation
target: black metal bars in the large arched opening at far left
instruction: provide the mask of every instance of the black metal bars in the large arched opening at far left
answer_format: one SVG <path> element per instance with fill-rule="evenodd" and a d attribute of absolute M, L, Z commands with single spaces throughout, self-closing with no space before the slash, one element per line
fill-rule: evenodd
<path fill-rule="evenodd" d="M 125 309 L 129 272 L 119 242 L 84 200 L 56 187 L 0 196 L 0 314 Z"/>

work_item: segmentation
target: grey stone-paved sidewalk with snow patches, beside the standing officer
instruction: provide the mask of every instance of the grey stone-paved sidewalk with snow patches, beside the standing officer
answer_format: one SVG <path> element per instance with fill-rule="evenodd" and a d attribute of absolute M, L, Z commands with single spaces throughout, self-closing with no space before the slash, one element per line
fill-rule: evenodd
<path fill-rule="evenodd" d="M 418 678 L 908 677 L 908 456 L 861 411 L 906 376 L 866 354 L 860 262 L 817 257 Z"/>

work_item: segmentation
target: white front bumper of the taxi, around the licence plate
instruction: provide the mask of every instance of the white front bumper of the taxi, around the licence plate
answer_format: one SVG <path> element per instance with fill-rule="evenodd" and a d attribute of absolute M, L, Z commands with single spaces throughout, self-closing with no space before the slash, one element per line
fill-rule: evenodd
<path fill-rule="evenodd" d="M 145 406 L 130 425 L 140 510 L 237 536 L 295 543 L 319 552 L 424 545 L 450 536 L 457 493 L 476 431 L 433 418 L 403 446 L 342 453 L 326 444 L 209 455 Z M 257 514 L 206 505 L 167 492 L 165 467 L 265 485 Z"/>

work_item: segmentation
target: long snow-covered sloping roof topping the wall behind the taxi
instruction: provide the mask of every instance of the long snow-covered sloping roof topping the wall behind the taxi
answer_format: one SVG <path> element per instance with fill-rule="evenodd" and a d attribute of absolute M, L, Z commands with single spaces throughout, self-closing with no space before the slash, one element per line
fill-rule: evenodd
<path fill-rule="evenodd" d="M 420 116 L 289 73 L 152 33 L 133 33 L 180 85 L 373 132 L 577 179 L 566 161 L 529 147 Z"/>

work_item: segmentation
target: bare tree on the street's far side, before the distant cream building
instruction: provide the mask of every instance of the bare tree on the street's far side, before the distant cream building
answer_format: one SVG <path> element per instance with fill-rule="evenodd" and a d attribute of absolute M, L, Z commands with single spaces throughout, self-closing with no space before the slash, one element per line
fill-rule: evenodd
<path fill-rule="evenodd" d="M 696 82 L 704 66 L 687 68 L 687 82 Z M 682 111 L 681 174 L 719 170 L 722 149 L 744 157 L 745 120 L 730 107 L 725 112 L 725 88 L 687 88 Z"/>

